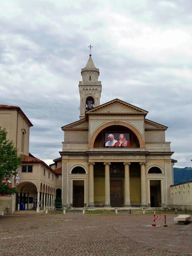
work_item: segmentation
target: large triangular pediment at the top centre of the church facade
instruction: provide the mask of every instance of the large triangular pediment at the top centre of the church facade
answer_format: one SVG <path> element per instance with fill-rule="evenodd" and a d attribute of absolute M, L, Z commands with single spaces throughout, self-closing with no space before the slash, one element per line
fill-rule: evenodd
<path fill-rule="evenodd" d="M 112 101 L 109 101 L 105 104 L 102 104 L 98 107 L 95 107 L 89 111 L 86 112 L 86 114 L 130 114 L 130 115 L 144 115 L 146 116 L 146 114 L 148 113 L 148 111 L 133 106 L 127 102 L 121 101 L 119 99 L 115 99 Z"/>

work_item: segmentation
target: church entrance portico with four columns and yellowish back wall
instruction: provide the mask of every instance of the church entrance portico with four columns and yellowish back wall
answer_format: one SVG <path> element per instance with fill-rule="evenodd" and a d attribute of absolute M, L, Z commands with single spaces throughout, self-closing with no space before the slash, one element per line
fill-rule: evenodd
<path fill-rule="evenodd" d="M 141 192 L 143 171 L 141 162 L 97 162 L 92 163 L 94 173 L 93 190 L 95 207 L 131 207 L 141 206 L 146 194 Z M 142 182 L 141 182 L 142 181 Z M 146 193 L 146 189 L 144 190 Z"/>

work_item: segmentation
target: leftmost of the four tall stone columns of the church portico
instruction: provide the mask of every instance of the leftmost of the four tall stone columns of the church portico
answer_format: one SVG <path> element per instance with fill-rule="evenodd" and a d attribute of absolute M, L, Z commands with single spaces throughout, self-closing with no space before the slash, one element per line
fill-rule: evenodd
<path fill-rule="evenodd" d="M 89 164 L 89 204 L 88 208 L 95 208 L 94 206 L 94 164 Z"/>

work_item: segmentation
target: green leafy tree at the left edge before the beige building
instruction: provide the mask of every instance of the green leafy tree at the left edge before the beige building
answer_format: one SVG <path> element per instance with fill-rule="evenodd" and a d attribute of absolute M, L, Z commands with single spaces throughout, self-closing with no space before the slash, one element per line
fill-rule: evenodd
<path fill-rule="evenodd" d="M 12 141 L 7 140 L 7 130 L 0 126 L 0 194 L 14 194 L 17 188 L 12 187 L 5 180 L 9 180 L 16 175 L 21 157 L 17 154 L 17 149 Z"/>

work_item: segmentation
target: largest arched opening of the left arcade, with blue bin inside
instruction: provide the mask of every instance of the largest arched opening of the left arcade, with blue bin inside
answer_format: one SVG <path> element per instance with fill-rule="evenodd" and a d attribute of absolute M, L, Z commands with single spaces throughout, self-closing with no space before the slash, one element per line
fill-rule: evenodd
<path fill-rule="evenodd" d="M 17 186 L 15 210 L 36 210 L 37 188 L 31 182 L 22 182 Z"/>

